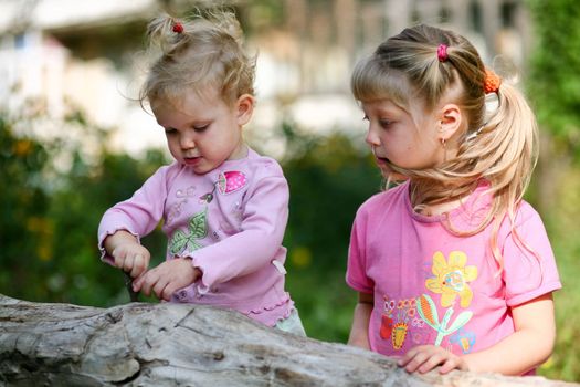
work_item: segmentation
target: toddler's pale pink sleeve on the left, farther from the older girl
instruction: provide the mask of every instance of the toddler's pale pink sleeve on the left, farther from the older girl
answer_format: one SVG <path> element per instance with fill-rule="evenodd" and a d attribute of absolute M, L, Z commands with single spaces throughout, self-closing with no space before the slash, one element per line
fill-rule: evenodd
<path fill-rule="evenodd" d="M 161 167 L 152 175 L 130 199 L 109 208 L 98 226 L 98 249 L 101 258 L 109 262 L 103 247 L 107 236 L 118 230 L 126 230 L 137 240 L 151 232 L 164 215 L 164 205 L 167 197 L 167 172 L 169 167 Z"/>

